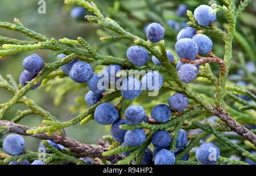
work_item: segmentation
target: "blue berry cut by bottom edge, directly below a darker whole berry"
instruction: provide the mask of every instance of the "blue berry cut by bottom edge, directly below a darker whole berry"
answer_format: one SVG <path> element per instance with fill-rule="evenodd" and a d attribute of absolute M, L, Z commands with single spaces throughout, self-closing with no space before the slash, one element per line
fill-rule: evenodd
<path fill-rule="evenodd" d="M 175 155 L 174 152 L 167 149 L 161 149 L 155 155 L 155 165 L 174 165 Z"/>

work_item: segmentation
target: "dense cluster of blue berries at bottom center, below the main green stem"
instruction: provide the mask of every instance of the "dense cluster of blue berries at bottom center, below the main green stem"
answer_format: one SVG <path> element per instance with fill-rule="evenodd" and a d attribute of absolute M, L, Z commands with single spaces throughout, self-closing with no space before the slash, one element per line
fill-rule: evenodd
<path fill-rule="evenodd" d="M 188 99 L 185 95 L 181 93 L 177 93 L 169 98 L 168 105 L 165 104 L 159 104 L 154 106 L 151 110 L 151 119 L 154 119 L 156 122 L 164 123 L 167 122 L 172 115 L 172 110 L 174 109 L 176 111 L 183 111 L 188 107 Z M 111 104 L 109 106 L 112 106 Z M 100 107 L 100 108 L 98 108 Z M 104 119 L 106 116 L 108 117 L 115 117 L 118 118 L 118 115 L 115 116 L 113 114 L 117 114 L 117 111 L 112 107 L 111 111 L 112 113 L 104 114 L 105 109 L 101 108 L 101 105 L 99 105 L 96 110 L 97 113 L 94 113 L 94 117 L 96 117 L 96 121 L 98 122 L 98 114 L 101 114 L 101 120 Z M 98 111 L 100 110 L 100 111 Z M 114 119 L 114 118 L 111 118 Z M 110 118 L 108 120 L 110 123 Z M 111 121 L 112 122 L 112 121 Z M 138 105 L 131 105 L 125 110 L 125 119 L 117 119 L 111 127 L 111 134 L 113 138 L 122 143 L 121 147 L 123 146 L 131 146 L 136 147 L 144 143 L 146 140 L 146 134 L 142 128 L 138 128 L 135 130 L 127 131 L 127 130 L 121 130 L 120 125 L 125 124 L 134 124 L 138 125 L 140 123 L 147 123 L 148 117 L 142 106 Z M 109 124 L 108 123 L 108 124 Z M 175 162 L 175 155 L 179 154 L 178 152 L 174 153 L 172 151 L 169 151 L 167 148 L 171 144 L 172 137 L 169 132 L 167 131 L 157 131 L 154 135 L 152 135 L 151 141 L 152 145 L 154 145 L 153 152 L 150 151 L 150 149 L 146 149 L 146 152 L 144 153 L 143 159 L 141 164 L 151 164 L 152 160 L 154 159 L 154 164 L 161 165 L 161 164 L 174 164 Z M 188 136 L 187 132 L 185 130 L 180 130 L 179 134 L 177 135 L 176 140 L 176 151 L 181 152 L 182 149 L 187 145 L 188 143 Z M 124 156 L 129 156 L 131 151 L 123 152 L 122 154 Z M 189 154 L 186 154 L 186 156 L 183 157 L 183 160 L 188 160 Z"/>

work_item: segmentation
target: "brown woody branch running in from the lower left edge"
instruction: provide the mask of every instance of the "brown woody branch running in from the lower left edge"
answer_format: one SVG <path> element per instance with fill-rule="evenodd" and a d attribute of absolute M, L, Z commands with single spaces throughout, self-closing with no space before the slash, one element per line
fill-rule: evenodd
<path fill-rule="evenodd" d="M 123 160 L 124 158 L 124 156 L 122 156 L 121 154 L 113 154 L 111 156 L 102 156 L 103 152 L 108 151 L 106 148 L 102 146 L 95 147 L 93 145 L 82 144 L 79 141 L 69 138 L 68 136 L 65 136 L 65 135 L 60 136 L 58 134 L 52 134 L 51 136 L 47 136 L 46 133 L 36 134 L 36 135 L 26 134 L 27 130 L 32 130 L 36 128 L 18 125 L 14 122 L 9 122 L 9 121 L 0 121 L 0 126 L 8 126 L 8 129 L 6 130 L 5 134 L 14 132 L 15 134 L 19 134 L 23 136 L 33 136 L 35 138 L 39 138 L 43 140 L 52 140 L 57 144 L 61 144 L 64 147 L 67 147 L 72 151 L 79 153 L 81 157 L 86 157 L 86 156 L 92 157 L 92 158 L 98 157 L 104 160 L 111 161 L 112 163 L 116 163 L 119 160 Z"/>

